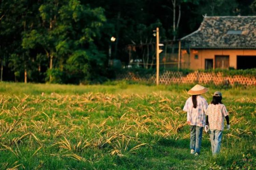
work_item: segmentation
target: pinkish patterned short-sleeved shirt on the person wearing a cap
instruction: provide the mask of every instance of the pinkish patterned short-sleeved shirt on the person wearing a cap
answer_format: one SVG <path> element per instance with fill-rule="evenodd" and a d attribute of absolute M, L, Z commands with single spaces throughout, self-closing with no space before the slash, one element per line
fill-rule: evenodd
<path fill-rule="evenodd" d="M 223 131 L 224 117 L 228 115 L 224 104 L 209 104 L 206 115 L 208 115 L 210 129 Z"/>

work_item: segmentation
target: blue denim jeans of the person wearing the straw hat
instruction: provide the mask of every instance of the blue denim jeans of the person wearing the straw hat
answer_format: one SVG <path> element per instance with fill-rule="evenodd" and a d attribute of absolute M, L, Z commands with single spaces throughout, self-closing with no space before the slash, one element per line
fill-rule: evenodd
<path fill-rule="evenodd" d="M 194 149 L 196 153 L 200 153 L 202 134 L 203 127 L 190 125 L 190 149 Z"/>

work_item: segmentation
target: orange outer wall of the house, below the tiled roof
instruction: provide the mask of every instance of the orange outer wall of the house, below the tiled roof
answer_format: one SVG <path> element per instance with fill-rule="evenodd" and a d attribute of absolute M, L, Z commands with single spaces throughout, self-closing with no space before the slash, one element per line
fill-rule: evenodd
<path fill-rule="evenodd" d="M 195 59 L 195 55 L 198 59 Z M 256 55 L 256 50 L 232 50 L 232 49 L 190 49 L 189 68 L 205 69 L 205 59 L 213 59 L 213 68 L 215 66 L 215 55 L 229 55 L 229 67 L 237 68 L 238 55 Z"/>

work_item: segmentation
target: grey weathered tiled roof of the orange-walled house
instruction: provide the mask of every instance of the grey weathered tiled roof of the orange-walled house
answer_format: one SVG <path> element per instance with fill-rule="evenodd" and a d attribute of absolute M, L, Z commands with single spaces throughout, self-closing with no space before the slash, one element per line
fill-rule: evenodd
<path fill-rule="evenodd" d="M 181 40 L 197 49 L 256 49 L 256 16 L 207 16 Z"/>

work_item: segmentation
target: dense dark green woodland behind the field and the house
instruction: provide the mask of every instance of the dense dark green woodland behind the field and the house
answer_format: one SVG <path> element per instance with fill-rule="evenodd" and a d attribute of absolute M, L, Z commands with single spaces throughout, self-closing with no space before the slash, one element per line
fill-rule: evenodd
<path fill-rule="evenodd" d="M 2 0 L 1 80 L 88 83 L 112 77 L 109 59 L 126 45 L 175 40 L 202 15 L 253 15 L 255 0 Z M 116 37 L 115 42 L 110 37 Z M 109 50 L 112 51 L 109 54 Z"/>

